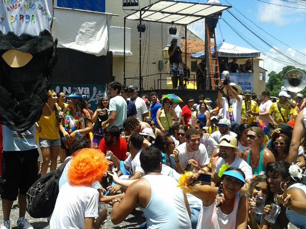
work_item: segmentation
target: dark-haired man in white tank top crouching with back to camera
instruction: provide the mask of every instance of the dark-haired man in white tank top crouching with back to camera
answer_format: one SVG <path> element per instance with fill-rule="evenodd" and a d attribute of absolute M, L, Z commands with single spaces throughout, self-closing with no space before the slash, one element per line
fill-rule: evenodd
<path fill-rule="evenodd" d="M 153 146 L 143 149 L 140 163 L 146 175 L 128 187 L 122 200 L 113 200 L 113 224 L 121 223 L 138 205 L 147 219 L 148 229 L 191 229 L 186 196 L 173 177 L 160 173 L 160 151 Z"/>

